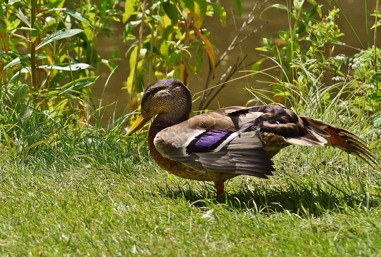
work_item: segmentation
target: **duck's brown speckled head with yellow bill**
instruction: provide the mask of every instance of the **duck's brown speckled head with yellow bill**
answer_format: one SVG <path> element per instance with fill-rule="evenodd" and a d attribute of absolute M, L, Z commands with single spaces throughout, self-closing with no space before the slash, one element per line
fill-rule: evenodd
<path fill-rule="evenodd" d="M 157 114 L 167 113 L 167 119 L 171 119 L 174 124 L 187 120 L 191 109 L 191 93 L 181 80 L 158 80 L 144 91 L 138 118 L 127 135 L 139 131 Z"/>

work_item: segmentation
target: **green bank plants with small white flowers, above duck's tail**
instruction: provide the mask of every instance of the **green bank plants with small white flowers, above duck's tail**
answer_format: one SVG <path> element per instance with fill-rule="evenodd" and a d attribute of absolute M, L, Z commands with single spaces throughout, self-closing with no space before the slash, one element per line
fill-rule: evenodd
<path fill-rule="evenodd" d="M 312 4 L 309 10 L 305 7 L 307 2 Z M 359 54 L 352 58 L 333 54 L 335 45 L 344 45 L 339 40 L 343 33 L 335 22 L 338 14 L 344 16 L 344 13 L 337 3 L 321 20 L 314 18 L 316 12 L 322 17 L 321 5 L 315 1 L 294 1 L 292 10 L 285 5 L 275 4 L 264 11 L 269 8 L 287 11 L 293 23 L 290 24 L 290 30 L 279 32 L 282 42 L 271 44 L 271 38 L 264 38 L 264 46 L 256 48 L 267 52 L 280 68 L 279 76 L 271 76 L 275 81 L 271 92 L 273 98 L 267 101 L 291 104 L 296 110 L 304 111 L 307 106 L 314 106 L 320 114 L 338 107 L 353 119 L 363 114 L 368 117 L 375 114 L 372 124 L 379 128 L 379 49 L 375 46 L 366 51 L 359 49 Z M 373 16 L 376 16 L 375 25 L 367 30 L 378 26 L 379 15 Z M 352 28 L 351 24 L 349 26 Z M 301 45 L 306 48 L 306 44 L 309 45 L 308 49 L 302 50 Z M 259 70 L 262 62 L 263 59 L 254 64 L 252 70 Z M 257 100 L 264 96 L 259 90 L 252 92 Z M 339 111 L 337 115 L 343 116 L 343 113 Z"/>

